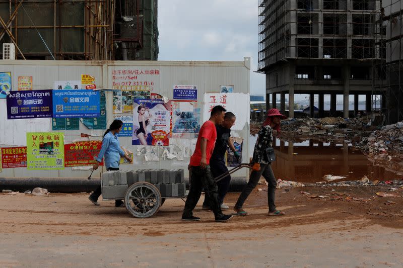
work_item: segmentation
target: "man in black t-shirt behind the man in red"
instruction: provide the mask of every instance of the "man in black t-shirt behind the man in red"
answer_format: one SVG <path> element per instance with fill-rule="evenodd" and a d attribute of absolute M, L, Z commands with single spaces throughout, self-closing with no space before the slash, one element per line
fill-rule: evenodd
<path fill-rule="evenodd" d="M 235 124 L 235 115 L 231 112 L 225 113 L 224 121 L 220 125 L 216 125 L 217 141 L 214 146 L 213 154 L 210 158 L 210 168 L 214 177 L 228 171 L 225 165 L 225 152 L 227 151 L 227 145 L 234 152 L 235 157 L 239 158 L 239 154 L 234 147 L 234 143 L 230 139 L 231 127 Z M 223 203 L 224 197 L 227 194 L 230 187 L 231 175 L 226 176 L 220 182 L 218 186 L 218 202 L 221 205 L 221 209 L 228 209 L 229 207 Z M 209 198 L 205 195 L 205 201 L 203 202 L 203 209 L 210 209 Z"/>

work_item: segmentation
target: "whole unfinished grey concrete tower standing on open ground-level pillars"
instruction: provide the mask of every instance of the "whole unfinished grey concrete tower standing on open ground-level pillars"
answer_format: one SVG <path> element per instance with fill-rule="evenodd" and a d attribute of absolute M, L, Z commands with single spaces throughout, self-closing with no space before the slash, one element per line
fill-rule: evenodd
<path fill-rule="evenodd" d="M 358 97 L 365 95 L 365 110 L 371 111 L 372 66 L 381 58 L 380 36 L 374 35 L 379 14 L 375 0 L 259 0 L 258 71 L 266 74 L 267 107 L 280 94 L 284 113 L 289 94 L 288 115 L 294 117 L 295 94 L 309 94 L 310 107 L 317 95 L 319 116 L 348 118 L 358 113 Z M 329 111 L 324 95 L 330 95 Z M 337 95 L 343 95 L 340 113 Z"/>

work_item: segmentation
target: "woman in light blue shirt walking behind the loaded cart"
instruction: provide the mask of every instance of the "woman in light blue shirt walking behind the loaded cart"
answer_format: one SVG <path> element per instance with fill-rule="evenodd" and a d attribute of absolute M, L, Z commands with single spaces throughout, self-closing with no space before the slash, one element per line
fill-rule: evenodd
<path fill-rule="evenodd" d="M 114 120 L 110 124 L 109 128 L 104 133 L 102 139 L 101 151 L 97 156 L 97 163 L 94 164 L 93 169 L 96 170 L 104 157 L 104 163 L 106 170 L 119 170 L 120 156 L 123 156 L 131 163 L 131 158 L 120 148 L 119 140 L 116 134 L 122 129 L 123 122 L 120 120 Z M 99 206 L 98 198 L 101 195 L 101 186 L 92 193 L 88 199 L 94 203 L 94 205 Z M 121 200 L 116 200 L 115 206 L 120 207 L 123 204 Z"/>

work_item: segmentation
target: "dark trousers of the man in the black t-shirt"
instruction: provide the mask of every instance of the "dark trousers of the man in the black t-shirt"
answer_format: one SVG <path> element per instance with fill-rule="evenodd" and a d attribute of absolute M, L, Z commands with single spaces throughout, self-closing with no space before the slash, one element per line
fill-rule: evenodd
<path fill-rule="evenodd" d="M 228 172 L 228 168 L 225 166 L 224 158 L 221 159 L 210 159 L 210 168 L 213 177 L 218 177 L 219 175 Z M 218 187 L 218 203 L 221 205 L 224 202 L 224 197 L 230 189 L 231 175 L 225 176 L 221 181 L 217 182 Z M 205 195 L 205 201 L 203 206 L 210 206 L 210 200 L 207 195 Z"/>

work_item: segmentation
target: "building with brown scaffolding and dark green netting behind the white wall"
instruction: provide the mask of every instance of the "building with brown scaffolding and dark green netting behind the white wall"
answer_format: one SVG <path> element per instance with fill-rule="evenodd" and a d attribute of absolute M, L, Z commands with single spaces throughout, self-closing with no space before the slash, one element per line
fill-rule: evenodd
<path fill-rule="evenodd" d="M 157 60 L 157 0 L 0 0 L 21 59 Z"/>

